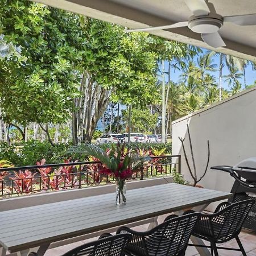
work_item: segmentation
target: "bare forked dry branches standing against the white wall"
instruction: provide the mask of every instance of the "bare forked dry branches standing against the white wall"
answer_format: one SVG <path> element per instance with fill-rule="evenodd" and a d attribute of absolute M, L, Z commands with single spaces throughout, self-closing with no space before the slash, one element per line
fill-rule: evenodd
<path fill-rule="evenodd" d="M 187 125 L 187 129 L 188 129 L 188 140 L 189 140 L 189 147 L 190 147 L 190 151 L 191 151 L 193 171 L 192 171 L 191 166 L 190 166 L 190 164 L 188 162 L 187 152 L 185 151 L 185 146 L 184 146 L 185 138 L 183 139 L 183 138 L 179 137 L 179 140 L 180 140 L 180 142 L 182 144 L 182 148 L 183 148 L 183 152 L 184 152 L 184 156 L 185 156 L 185 161 L 186 161 L 187 166 L 188 166 L 189 174 L 191 175 L 191 177 L 193 179 L 193 186 L 195 187 L 195 185 L 197 183 L 199 183 L 199 181 L 201 181 L 201 179 L 203 179 L 203 177 L 207 173 L 207 169 L 208 169 L 208 165 L 209 165 L 209 160 L 210 160 L 210 144 L 209 144 L 209 141 L 207 141 L 207 146 L 208 146 L 207 165 L 205 167 L 203 175 L 199 179 L 197 179 L 196 162 L 195 162 L 195 156 L 194 156 L 194 152 L 193 152 L 192 140 L 191 140 L 191 135 L 190 135 L 190 131 L 189 131 L 189 126 L 188 125 Z"/>

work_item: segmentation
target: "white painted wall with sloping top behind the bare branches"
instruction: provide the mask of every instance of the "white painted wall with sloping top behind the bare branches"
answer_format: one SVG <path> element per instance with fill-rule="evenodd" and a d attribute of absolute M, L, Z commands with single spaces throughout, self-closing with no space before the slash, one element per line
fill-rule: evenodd
<path fill-rule="evenodd" d="M 181 154 L 181 174 L 192 181 L 178 138 L 185 137 L 185 150 L 192 167 L 187 123 L 199 175 L 207 163 L 207 140 L 210 143 L 208 172 L 200 184 L 205 188 L 229 192 L 234 179 L 224 172 L 210 170 L 210 167 L 222 164 L 233 166 L 256 156 L 256 88 L 172 122 L 172 154 Z"/>

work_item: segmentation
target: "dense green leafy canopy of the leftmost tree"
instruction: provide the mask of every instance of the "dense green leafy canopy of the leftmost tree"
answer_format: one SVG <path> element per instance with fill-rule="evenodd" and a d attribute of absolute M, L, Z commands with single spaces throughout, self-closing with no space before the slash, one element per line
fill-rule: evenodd
<path fill-rule="evenodd" d="M 0 14 L 1 33 L 21 48 L 23 57 L 1 63 L 3 117 L 15 126 L 39 123 L 49 135 L 48 123 L 67 121 L 79 95 L 79 20 L 75 14 L 19 0 L 4 0 Z"/>

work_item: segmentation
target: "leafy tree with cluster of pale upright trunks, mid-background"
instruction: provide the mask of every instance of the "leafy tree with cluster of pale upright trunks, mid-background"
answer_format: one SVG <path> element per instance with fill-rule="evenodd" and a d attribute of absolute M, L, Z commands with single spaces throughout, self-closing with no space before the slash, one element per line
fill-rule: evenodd
<path fill-rule="evenodd" d="M 157 59 L 146 34 L 81 17 L 86 51 L 80 92 L 72 118 L 73 142 L 92 139 L 110 101 L 145 107 L 155 101 Z"/>

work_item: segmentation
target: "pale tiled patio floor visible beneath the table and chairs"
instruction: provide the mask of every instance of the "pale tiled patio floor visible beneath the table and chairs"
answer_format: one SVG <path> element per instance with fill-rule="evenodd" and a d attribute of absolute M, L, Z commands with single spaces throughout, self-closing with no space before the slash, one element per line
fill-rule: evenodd
<path fill-rule="evenodd" d="M 166 216 L 159 216 L 158 221 L 161 223 Z M 142 226 L 137 226 L 133 228 L 134 230 L 138 231 L 146 231 L 147 230 L 148 224 L 142 225 Z M 96 239 L 96 238 L 94 238 Z M 71 243 L 69 245 L 57 247 L 54 249 L 49 249 L 46 252 L 46 256 L 60 256 L 66 253 L 67 251 L 80 246 L 86 242 L 93 241 L 94 239 L 90 240 L 85 240 L 81 242 L 76 242 L 76 243 Z M 245 251 L 247 253 L 247 256 L 256 256 L 256 233 L 251 232 L 249 230 L 242 230 L 240 233 L 240 239 L 243 244 L 243 247 L 245 248 Z M 223 246 L 225 247 L 230 247 L 230 248 L 237 248 L 237 242 L 236 240 L 229 241 L 227 243 L 224 243 Z M 240 251 L 228 251 L 228 250 L 218 250 L 218 253 L 220 256 L 240 256 L 242 255 Z M 195 247 L 189 246 L 185 256 L 198 256 L 199 254 L 197 253 L 197 250 Z"/>

